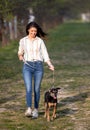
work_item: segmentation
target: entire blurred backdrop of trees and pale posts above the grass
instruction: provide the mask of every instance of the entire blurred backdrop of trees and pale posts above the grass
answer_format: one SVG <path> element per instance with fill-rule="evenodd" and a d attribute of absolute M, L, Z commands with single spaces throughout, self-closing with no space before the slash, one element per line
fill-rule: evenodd
<path fill-rule="evenodd" d="M 90 22 L 90 0 L 0 0 L 0 46 L 26 35 L 28 22 L 48 31 L 70 20 Z"/>

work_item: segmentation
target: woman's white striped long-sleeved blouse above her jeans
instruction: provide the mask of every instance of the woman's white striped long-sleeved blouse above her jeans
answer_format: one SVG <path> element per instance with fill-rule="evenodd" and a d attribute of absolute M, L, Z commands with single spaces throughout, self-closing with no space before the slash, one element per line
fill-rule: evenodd
<path fill-rule="evenodd" d="M 18 55 L 24 55 L 25 61 L 50 60 L 44 41 L 40 37 L 30 40 L 28 36 L 20 39 Z"/>

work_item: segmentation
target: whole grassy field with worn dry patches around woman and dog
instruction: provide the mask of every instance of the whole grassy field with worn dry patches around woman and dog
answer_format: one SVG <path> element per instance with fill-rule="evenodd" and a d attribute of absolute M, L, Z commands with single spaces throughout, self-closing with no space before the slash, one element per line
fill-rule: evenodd
<path fill-rule="evenodd" d="M 89 130 L 90 23 L 64 23 L 49 31 L 46 46 L 55 66 L 57 118 L 43 118 L 44 92 L 53 85 L 53 73 L 44 65 L 39 118 L 24 116 L 26 109 L 18 41 L 0 48 L 0 130 Z"/>

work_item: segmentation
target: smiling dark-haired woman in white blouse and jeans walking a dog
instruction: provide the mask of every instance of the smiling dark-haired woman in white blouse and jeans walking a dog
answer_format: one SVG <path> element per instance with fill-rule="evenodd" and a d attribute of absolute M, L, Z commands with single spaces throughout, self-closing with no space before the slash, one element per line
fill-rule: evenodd
<path fill-rule="evenodd" d="M 43 77 L 43 60 L 54 71 L 46 46 L 41 37 L 45 37 L 41 27 L 31 22 L 26 26 L 27 36 L 20 39 L 18 57 L 24 61 L 23 77 L 26 86 L 27 110 L 25 116 L 38 117 L 38 107 L 40 100 L 40 85 Z M 32 111 L 32 78 L 34 78 L 34 110 Z"/>

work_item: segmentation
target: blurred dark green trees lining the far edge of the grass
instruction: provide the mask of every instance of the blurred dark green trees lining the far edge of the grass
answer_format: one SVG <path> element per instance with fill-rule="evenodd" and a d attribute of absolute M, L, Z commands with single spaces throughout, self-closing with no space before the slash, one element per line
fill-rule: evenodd
<path fill-rule="evenodd" d="M 28 22 L 29 8 L 33 9 L 35 20 L 47 29 L 62 23 L 64 17 L 76 18 L 82 12 L 89 12 L 90 0 L 0 0 L 0 35 L 3 43 L 5 31 L 8 30 L 6 25 L 12 22 L 14 16 L 18 19 L 19 32 L 23 32 Z"/>

